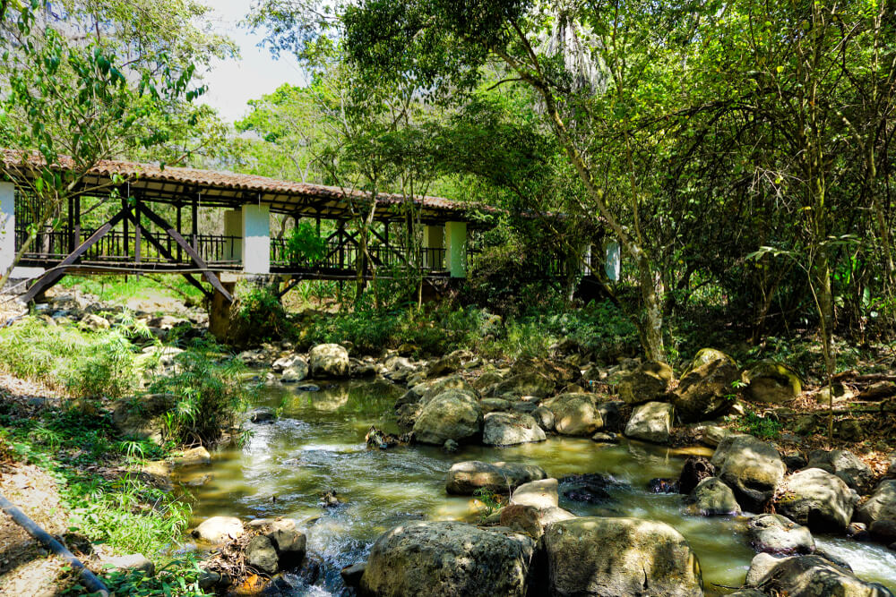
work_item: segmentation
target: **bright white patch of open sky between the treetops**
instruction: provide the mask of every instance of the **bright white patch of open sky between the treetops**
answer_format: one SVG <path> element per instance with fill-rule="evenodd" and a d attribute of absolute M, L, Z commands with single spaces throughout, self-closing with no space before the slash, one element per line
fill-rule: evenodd
<path fill-rule="evenodd" d="M 246 114 L 246 102 L 271 93 L 283 83 L 302 85 L 305 82 L 295 58 L 281 55 L 275 59 L 264 47 L 258 47 L 262 36 L 238 26 L 249 12 L 251 0 L 204 0 L 214 8 L 213 27 L 233 39 L 239 47 L 237 59 L 215 60 L 210 72 L 203 76 L 209 90 L 204 103 L 215 107 L 221 117 L 233 123 Z"/>

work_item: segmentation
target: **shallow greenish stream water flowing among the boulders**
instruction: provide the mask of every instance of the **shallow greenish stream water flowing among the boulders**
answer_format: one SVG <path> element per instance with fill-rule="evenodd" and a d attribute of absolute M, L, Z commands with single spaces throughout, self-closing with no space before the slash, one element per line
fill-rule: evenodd
<path fill-rule="evenodd" d="M 323 560 L 314 585 L 287 576 L 297 595 L 338 594 L 340 568 L 366 559 L 370 544 L 392 525 L 409 519 L 478 520 L 478 504 L 445 494 L 449 467 L 461 460 L 519 461 L 544 467 L 549 476 L 605 473 L 623 483 L 601 506 L 569 501 L 560 506 L 579 516 L 631 516 L 661 520 L 684 534 L 700 559 L 707 593 L 744 581 L 754 551 L 745 542 L 742 520 L 688 516 L 681 496 L 645 490 L 655 477 L 677 477 L 685 451 L 625 439 L 616 446 L 590 439 L 551 438 L 508 448 L 470 446 L 446 455 L 414 446 L 368 449 L 371 425 L 398 432 L 392 405 L 401 390 L 389 384 L 353 382 L 300 391 L 263 388 L 256 403 L 280 410 L 276 422 L 251 424 L 243 448 L 215 456 L 211 482 L 195 491 L 194 524 L 208 516 L 243 519 L 289 516 L 305 530 L 308 550 Z M 324 508 L 322 494 L 335 490 L 345 501 Z M 818 538 L 865 580 L 896 590 L 896 553 L 883 546 L 841 538 Z M 720 585 L 720 586 L 719 586 Z"/>

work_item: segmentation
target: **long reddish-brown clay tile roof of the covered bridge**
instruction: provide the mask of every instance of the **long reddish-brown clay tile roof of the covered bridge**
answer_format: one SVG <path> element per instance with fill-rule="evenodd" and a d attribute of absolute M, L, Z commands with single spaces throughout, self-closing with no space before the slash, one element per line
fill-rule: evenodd
<path fill-rule="evenodd" d="M 4 170 L 15 178 L 30 179 L 46 165 L 38 154 L 0 149 Z M 60 157 L 51 166 L 59 172 L 75 173 L 72 158 Z M 113 177 L 118 175 L 122 183 Z M 203 207 L 237 208 L 244 204 L 269 205 L 271 211 L 298 217 L 349 218 L 353 209 L 369 209 L 372 194 L 323 184 L 297 183 L 266 176 L 241 175 L 216 170 L 159 166 L 120 160 L 100 160 L 83 177 L 81 191 L 90 196 L 109 194 L 116 188 L 123 195 L 139 193 L 142 200 L 188 204 L 198 197 Z M 411 206 L 424 222 L 470 221 L 475 212 L 501 210 L 443 197 L 377 194 L 376 219 L 403 219 Z"/>

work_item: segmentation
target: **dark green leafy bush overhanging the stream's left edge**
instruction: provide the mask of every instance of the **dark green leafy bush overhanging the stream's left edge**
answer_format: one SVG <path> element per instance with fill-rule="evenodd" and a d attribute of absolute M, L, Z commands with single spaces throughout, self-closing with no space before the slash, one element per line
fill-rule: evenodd
<path fill-rule="evenodd" d="M 220 347 L 195 342 L 177 354 L 175 372 L 155 380 L 150 391 L 177 397 L 165 414 L 166 437 L 177 444 L 214 445 L 224 433 L 237 431 L 248 404 L 248 390 L 236 359 L 220 362 Z"/>

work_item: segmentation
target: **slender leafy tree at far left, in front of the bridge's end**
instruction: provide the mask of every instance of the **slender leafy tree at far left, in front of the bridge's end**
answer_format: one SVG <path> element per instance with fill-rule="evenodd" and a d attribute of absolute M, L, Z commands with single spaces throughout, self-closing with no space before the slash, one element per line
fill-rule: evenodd
<path fill-rule="evenodd" d="M 59 14 L 38 2 L 0 4 L 0 145 L 13 150 L 4 155 L 0 174 L 21 183 L 31 211 L 29 235 L 13 267 L 39 231 L 57 225 L 66 201 L 108 191 L 84 182 L 99 160 L 163 145 L 178 125 L 180 108 L 203 92 L 191 87 L 195 64 L 179 35 L 189 30 L 194 13 L 181 14 L 174 31 L 157 22 L 153 33 L 142 19 L 155 19 L 148 7 L 160 5 L 70 3 Z M 128 15 L 135 20 L 133 36 Z M 122 21 L 107 21 L 112 17 Z M 90 33 L 79 33 L 90 22 Z M 124 29 L 105 35 L 109 23 L 122 22 Z M 192 122 L 187 117 L 179 125 Z M 2 274 L 0 286 L 11 272 Z"/>

